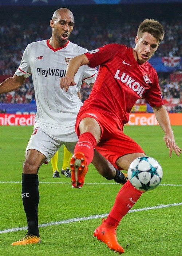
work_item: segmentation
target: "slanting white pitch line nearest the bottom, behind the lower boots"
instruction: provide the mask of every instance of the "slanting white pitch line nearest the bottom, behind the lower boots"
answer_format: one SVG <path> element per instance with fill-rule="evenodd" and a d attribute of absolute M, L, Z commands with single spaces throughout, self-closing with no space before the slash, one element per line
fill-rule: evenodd
<path fill-rule="evenodd" d="M 129 213 L 137 212 L 137 211 L 154 210 L 154 209 L 166 208 L 166 207 L 171 207 L 171 206 L 180 206 L 180 205 L 182 205 L 182 202 L 174 203 L 174 204 L 161 204 L 159 206 L 152 206 L 152 207 L 145 207 L 145 208 L 130 210 Z M 90 219 L 98 219 L 98 218 L 107 217 L 107 215 L 108 214 L 99 214 L 99 215 L 96 214 L 96 215 L 91 215 L 89 217 L 77 217 L 77 218 L 72 218 L 72 219 L 66 219 L 65 221 L 56 221 L 56 222 L 40 224 L 39 227 L 55 226 L 55 225 L 67 224 L 67 223 L 77 222 L 77 221 L 87 221 Z M 15 232 L 15 231 L 19 231 L 19 230 L 25 230 L 27 228 L 28 227 L 16 227 L 16 228 L 12 228 L 12 229 L 4 229 L 4 230 L 0 230 L 0 234 Z"/>

